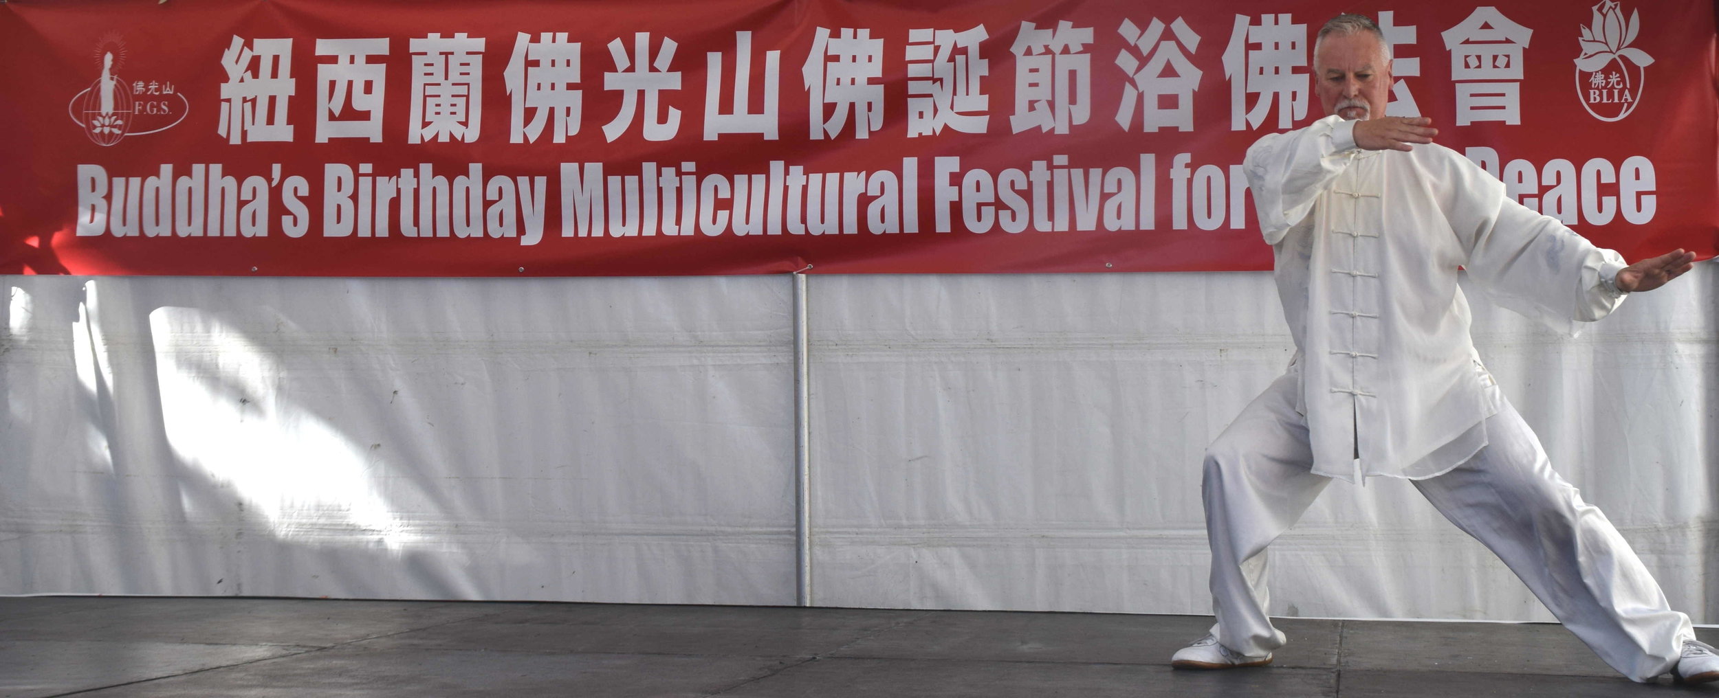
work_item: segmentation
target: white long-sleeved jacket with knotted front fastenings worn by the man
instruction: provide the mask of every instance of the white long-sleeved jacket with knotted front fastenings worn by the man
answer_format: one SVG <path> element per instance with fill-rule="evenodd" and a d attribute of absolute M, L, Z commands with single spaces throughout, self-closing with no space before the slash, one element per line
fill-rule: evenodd
<path fill-rule="evenodd" d="M 1506 308 L 1568 330 L 1623 303 L 1611 280 L 1624 265 L 1456 151 L 1358 150 L 1355 124 L 1262 138 L 1248 186 L 1298 349 L 1289 371 L 1313 471 L 1430 478 L 1485 447 L 1499 409 L 1458 266 Z"/>

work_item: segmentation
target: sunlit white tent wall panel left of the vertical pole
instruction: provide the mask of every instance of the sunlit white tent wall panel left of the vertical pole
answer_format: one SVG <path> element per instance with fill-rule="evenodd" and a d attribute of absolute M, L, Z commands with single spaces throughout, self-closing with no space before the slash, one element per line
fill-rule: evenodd
<path fill-rule="evenodd" d="M 0 593 L 791 603 L 780 285 L 9 284 Z"/>

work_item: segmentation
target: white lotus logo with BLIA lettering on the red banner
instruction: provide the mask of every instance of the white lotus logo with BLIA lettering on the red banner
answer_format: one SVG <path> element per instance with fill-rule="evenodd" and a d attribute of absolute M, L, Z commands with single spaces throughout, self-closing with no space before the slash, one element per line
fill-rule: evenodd
<path fill-rule="evenodd" d="M 1576 95 L 1599 120 L 1619 120 L 1635 112 L 1654 57 L 1630 46 L 1642 29 L 1640 14 L 1624 21 L 1616 0 L 1594 5 L 1594 24 L 1581 28 L 1581 57 L 1576 58 Z"/>

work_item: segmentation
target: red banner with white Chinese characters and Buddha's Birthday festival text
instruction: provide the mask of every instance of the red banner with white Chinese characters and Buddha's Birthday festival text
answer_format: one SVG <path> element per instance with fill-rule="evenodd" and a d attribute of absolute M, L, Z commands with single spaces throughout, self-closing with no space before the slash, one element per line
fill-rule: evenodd
<path fill-rule="evenodd" d="M 1331 0 L 0 3 L 0 273 L 1270 268 Z M 1382 3 L 1389 113 L 1719 251 L 1709 0 Z"/>

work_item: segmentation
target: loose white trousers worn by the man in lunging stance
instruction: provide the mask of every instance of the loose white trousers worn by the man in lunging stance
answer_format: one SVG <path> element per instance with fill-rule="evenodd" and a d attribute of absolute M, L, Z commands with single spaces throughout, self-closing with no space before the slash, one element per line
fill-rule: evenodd
<path fill-rule="evenodd" d="M 1212 634 L 1243 655 L 1284 645 L 1265 615 L 1265 547 L 1296 523 L 1331 478 L 1312 473 L 1306 419 L 1294 411 L 1294 375 L 1257 397 L 1205 457 L 1205 526 L 1212 543 Z M 1497 387 L 1489 387 L 1497 390 Z M 1688 615 L 1630 550 L 1606 514 L 1552 471 L 1521 414 L 1487 419 L 1489 445 L 1456 469 L 1416 480 L 1420 493 L 1456 528 L 1480 540 L 1542 603 L 1635 681 L 1671 670 Z"/>

